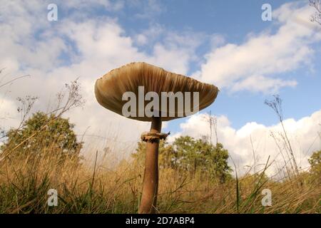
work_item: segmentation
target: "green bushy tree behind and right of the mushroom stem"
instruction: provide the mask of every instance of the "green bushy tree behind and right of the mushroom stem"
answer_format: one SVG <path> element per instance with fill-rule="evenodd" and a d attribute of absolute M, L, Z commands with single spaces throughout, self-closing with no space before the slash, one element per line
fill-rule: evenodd
<path fill-rule="evenodd" d="M 138 148 L 133 157 L 138 162 L 143 162 L 145 155 L 145 143 L 138 142 Z M 141 165 L 143 165 L 141 163 Z M 194 175 L 200 171 L 211 177 L 218 178 L 222 183 L 230 177 L 230 167 L 228 166 L 228 150 L 223 145 L 217 143 L 216 146 L 200 139 L 190 136 L 180 136 L 173 144 L 161 141 L 159 146 L 160 169 L 171 168 L 190 172 Z"/>

